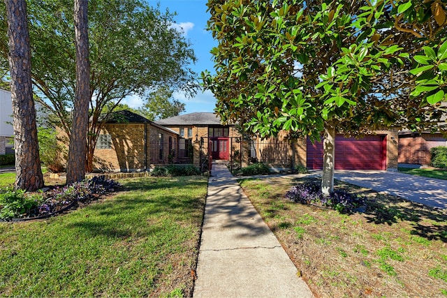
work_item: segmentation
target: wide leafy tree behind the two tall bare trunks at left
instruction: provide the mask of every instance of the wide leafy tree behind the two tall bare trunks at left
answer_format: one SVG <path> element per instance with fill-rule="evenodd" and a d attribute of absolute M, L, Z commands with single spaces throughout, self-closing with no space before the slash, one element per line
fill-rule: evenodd
<path fill-rule="evenodd" d="M 71 0 L 29 1 L 33 83 L 43 105 L 57 116 L 67 135 L 71 134 L 70 111 L 75 97 L 72 3 Z M 108 110 L 112 112 L 113 106 L 126 96 L 142 96 L 159 86 L 195 92 L 197 84 L 189 64 L 196 57 L 189 41 L 172 23 L 173 14 L 161 13 L 145 1 L 89 1 L 87 171 L 93 167 L 106 105 L 112 105 Z M 3 25 L 0 20 L 0 31 Z M 4 59 L 1 38 L 0 52 Z"/>

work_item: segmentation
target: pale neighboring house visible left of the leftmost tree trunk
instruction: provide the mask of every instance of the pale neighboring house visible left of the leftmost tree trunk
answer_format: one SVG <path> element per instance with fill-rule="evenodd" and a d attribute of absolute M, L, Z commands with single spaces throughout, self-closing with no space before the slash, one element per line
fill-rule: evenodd
<path fill-rule="evenodd" d="M 0 89 L 0 154 L 13 154 L 13 102 L 10 91 Z"/>

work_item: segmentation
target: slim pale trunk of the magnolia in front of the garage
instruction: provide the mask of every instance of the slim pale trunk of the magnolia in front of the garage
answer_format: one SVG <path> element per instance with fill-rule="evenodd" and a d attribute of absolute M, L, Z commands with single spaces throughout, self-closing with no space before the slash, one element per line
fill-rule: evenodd
<path fill-rule="evenodd" d="M 325 123 L 323 140 L 323 177 L 321 191 L 328 197 L 334 191 L 335 169 L 335 126 L 331 122 Z"/>

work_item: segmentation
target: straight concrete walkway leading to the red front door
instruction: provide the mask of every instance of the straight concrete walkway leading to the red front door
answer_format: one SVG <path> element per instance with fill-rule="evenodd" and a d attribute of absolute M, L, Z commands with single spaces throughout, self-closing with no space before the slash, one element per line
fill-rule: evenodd
<path fill-rule="evenodd" d="M 312 297 L 224 164 L 213 163 L 193 297 Z"/>

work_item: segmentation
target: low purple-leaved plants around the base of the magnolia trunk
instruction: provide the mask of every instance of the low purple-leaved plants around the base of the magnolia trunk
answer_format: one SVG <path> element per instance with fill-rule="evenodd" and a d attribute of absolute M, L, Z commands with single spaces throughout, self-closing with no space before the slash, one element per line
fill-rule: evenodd
<path fill-rule="evenodd" d="M 365 205 L 365 197 L 353 195 L 345 190 L 335 190 L 329 197 L 321 193 L 321 186 L 315 183 L 306 183 L 293 186 L 287 191 L 286 198 L 301 204 L 317 204 L 329 207 L 340 213 L 351 213 L 354 209 Z"/>

